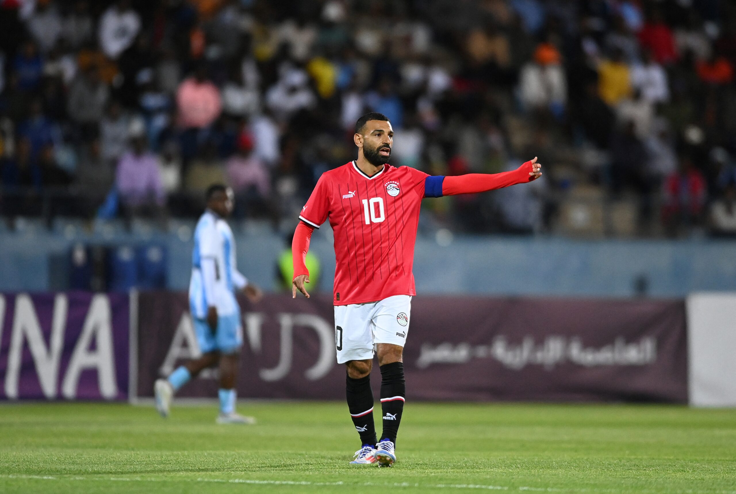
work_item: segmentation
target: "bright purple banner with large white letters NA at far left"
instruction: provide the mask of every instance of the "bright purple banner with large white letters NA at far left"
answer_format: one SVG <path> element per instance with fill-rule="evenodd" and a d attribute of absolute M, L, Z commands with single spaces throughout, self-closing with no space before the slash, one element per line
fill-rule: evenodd
<path fill-rule="evenodd" d="M 126 400 L 127 294 L 0 294 L 0 399 Z"/>

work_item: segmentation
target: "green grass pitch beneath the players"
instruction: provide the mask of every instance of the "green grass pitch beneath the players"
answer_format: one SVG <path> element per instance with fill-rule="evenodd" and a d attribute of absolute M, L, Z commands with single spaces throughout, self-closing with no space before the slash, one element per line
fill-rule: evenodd
<path fill-rule="evenodd" d="M 344 403 L 0 406 L 0 493 L 736 494 L 736 411 L 408 403 L 392 468 L 348 465 Z"/>

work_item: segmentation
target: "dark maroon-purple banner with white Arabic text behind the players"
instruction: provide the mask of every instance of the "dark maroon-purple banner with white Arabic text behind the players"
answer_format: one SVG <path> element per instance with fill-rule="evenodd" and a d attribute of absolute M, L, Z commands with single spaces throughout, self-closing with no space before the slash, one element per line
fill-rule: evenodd
<path fill-rule="evenodd" d="M 185 294 L 143 293 L 138 306 L 137 389 L 149 397 L 199 349 Z M 239 396 L 344 399 L 329 295 L 241 307 Z M 414 297 L 404 368 L 409 399 L 686 403 L 684 302 Z M 213 397 L 216 377 L 179 395 Z"/>

